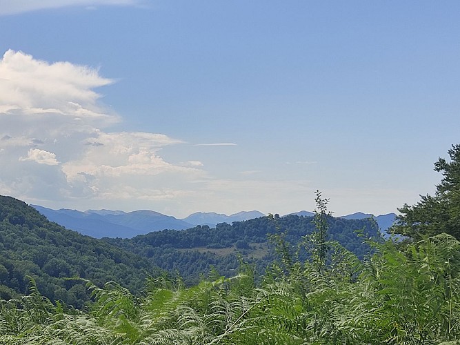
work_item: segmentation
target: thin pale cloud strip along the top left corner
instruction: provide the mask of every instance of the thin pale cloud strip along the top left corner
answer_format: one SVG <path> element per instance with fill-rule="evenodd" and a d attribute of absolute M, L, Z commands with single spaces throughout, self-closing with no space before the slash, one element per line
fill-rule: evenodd
<path fill-rule="evenodd" d="M 129 6 L 136 5 L 138 0 L 0 0 L 0 15 L 63 8 L 68 6 Z"/>

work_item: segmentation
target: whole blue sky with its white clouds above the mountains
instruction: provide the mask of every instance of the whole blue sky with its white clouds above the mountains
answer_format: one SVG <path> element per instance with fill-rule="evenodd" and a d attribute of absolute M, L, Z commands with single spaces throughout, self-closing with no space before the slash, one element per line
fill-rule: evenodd
<path fill-rule="evenodd" d="M 460 142 L 460 1 L 0 0 L 0 195 L 381 215 Z"/>

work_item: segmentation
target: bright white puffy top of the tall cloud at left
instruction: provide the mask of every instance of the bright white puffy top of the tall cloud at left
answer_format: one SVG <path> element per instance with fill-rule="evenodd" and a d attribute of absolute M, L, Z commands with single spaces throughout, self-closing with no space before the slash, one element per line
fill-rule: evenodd
<path fill-rule="evenodd" d="M 8 50 L 0 61 L 0 112 L 23 115 L 57 113 L 74 118 L 116 121 L 97 106 L 92 90 L 113 81 L 87 66 L 48 63 Z"/>

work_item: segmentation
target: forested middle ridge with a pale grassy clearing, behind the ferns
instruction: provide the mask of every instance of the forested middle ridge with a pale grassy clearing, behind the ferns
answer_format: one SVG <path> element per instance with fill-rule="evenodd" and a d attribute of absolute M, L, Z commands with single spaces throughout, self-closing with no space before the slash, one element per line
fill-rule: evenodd
<path fill-rule="evenodd" d="M 294 253 L 301 237 L 314 231 L 313 219 L 275 215 L 232 224 L 221 223 L 215 228 L 196 226 L 187 230 L 157 231 L 132 239 L 103 240 L 147 257 L 164 270 L 178 270 L 186 282 L 197 283 L 200 275 L 209 272 L 210 265 L 222 275 L 234 275 L 241 261 L 239 257 L 263 273 L 274 259 L 270 234 L 282 234 Z M 339 242 L 360 258 L 370 252 L 370 246 L 363 243 L 359 233 L 376 240 L 381 238 L 377 225 L 370 219 L 328 217 L 328 226 L 329 239 Z M 307 254 L 300 250 L 299 255 L 305 259 Z"/>

